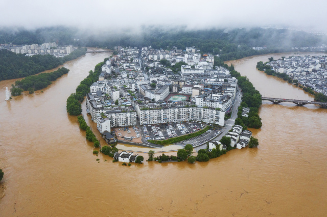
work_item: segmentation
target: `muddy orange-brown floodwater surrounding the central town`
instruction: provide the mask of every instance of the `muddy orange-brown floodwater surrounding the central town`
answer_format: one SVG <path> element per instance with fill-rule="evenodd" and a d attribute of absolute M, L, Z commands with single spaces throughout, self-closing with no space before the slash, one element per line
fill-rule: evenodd
<path fill-rule="evenodd" d="M 312 99 L 255 69 L 256 62 L 271 56 L 232 63 L 266 96 Z M 5 88 L 14 80 L 0 82 L 0 168 L 5 172 L 0 216 L 326 215 L 327 110 L 316 106 L 263 104 L 263 126 L 253 130 L 259 148 L 232 150 L 209 162 L 128 167 L 92 154 L 92 144 L 65 105 L 105 57 L 108 53 L 87 53 L 65 64 L 71 71 L 43 93 L 24 93 L 9 102 Z M 86 120 L 90 123 L 89 116 Z"/>

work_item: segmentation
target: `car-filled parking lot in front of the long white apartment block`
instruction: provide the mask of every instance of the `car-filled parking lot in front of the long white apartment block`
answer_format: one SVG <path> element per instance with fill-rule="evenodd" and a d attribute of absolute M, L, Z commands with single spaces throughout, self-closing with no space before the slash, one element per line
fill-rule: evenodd
<path fill-rule="evenodd" d="M 165 123 L 142 126 L 147 140 L 167 140 L 203 129 L 206 125 L 197 122 Z"/>

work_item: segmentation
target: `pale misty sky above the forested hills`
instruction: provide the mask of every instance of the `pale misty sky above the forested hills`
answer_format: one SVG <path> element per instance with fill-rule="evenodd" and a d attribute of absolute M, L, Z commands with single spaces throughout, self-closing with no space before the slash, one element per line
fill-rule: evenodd
<path fill-rule="evenodd" d="M 0 26 L 67 25 L 112 31 L 142 25 L 190 29 L 289 26 L 327 32 L 325 0 L 111 1 L 0 0 Z"/>

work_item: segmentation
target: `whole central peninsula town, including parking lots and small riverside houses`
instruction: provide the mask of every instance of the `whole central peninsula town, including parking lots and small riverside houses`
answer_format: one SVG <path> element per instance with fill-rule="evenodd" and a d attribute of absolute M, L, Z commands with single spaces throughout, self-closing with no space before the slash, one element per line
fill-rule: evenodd
<path fill-rule="evenodd" d="M 240 112 L 238 79 L 227 68 L 214 67 L 214 60 L 195 47 L 115 47 L 86 95 L 87 113 L 109 145 L 206 145 L 211 152 L 226 150 L 220 139 L 227 137 L 229 148 L 244 148 L 252 133 L 231 117 Z M 247 118 L 249 112 L 242 107 L 240 114 Z M 198 134 L 186 137 L 193 133 Z M 112 155 L 122 162 L 135 162 L 137 156 Z"/>

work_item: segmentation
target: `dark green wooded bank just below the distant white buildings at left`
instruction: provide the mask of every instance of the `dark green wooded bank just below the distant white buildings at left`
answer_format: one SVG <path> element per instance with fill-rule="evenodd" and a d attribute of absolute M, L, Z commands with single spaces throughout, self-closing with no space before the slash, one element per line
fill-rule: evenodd
<path fill-rule="evenodd" d="M 67 61 L 85 55 L 87 48 L 78 47 L 69 55 L 56 58 L 53 55 L 16 54 L 6 49 L 0 49 L 0 80 L 27 77 L 45 70 L 54 69 Z"/>

